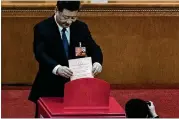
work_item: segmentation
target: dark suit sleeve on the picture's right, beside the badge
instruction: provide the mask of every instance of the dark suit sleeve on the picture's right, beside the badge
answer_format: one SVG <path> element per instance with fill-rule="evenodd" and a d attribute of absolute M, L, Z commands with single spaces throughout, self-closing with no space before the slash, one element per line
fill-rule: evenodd
<path fill-rule="evenodd" d="M 92 57 L 92 62 L 98 62 L 102 65 L 103 63 L 103 54 L 101 48 L 96 42 L 93 40 L 91 33 L 89 31 L 88 26 L 84 25 L 84 34 L 85 34 L 85 42 L 87 45 L 88 54 Z"/>

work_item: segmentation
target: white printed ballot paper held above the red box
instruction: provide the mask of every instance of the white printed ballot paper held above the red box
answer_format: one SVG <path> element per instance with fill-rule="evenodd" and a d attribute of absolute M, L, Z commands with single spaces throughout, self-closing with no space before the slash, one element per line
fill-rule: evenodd
<path fill-rule="evenodd" d="M 69 68 L 73 72 L 71 80 L 76 80 L 79 78 L 94 78 L 92 74 L 92 60 L 91 57 L 70 59 Z"/>

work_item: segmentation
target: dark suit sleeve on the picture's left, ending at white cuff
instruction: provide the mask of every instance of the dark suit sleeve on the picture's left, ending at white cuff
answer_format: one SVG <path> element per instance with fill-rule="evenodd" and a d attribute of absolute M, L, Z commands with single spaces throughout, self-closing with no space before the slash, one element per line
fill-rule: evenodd
<path fill-rule="evenodd" d="M 34 42 L 33 42 L 33 51 L 36 60 L 39 64 L 47 67 L 49 71 L 52 71 L 58 63 L 52 59 L 48 54 L 45 52 L 45 38 L 41 33 L 39 27 L 34 27 Z"/>

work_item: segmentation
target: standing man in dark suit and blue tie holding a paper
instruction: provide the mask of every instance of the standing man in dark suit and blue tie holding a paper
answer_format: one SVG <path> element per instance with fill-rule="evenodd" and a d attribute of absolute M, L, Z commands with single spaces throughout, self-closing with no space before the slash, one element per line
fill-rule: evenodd
<path fill-rule="evenodd" d="M 80 1 L 57 1 L 55 14 L 34 27 L 33 47 L 39 71 L 29 100 L 35 104 L 39 97 L 64 96 L 64 84 L 73 75 L 68 68 L 68 60 L 78 58 L 75 48 L 79 45 L 85 47 L 86 56 L 92 58 L 93 74 L 102 71 L 102 51 L 93 40 L 88 26 L 77 20 L 79 8 Z"/>

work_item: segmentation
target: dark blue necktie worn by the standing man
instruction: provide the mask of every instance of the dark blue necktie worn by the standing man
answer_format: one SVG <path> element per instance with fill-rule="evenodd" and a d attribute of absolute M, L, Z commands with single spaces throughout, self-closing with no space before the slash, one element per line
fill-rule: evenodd
<path fill-rule="evenodd" d="M 68 47 L 69 46 L 68 46 L 68 40 L 67 40 L 65 31 L 66 31 L 66 28 L 63 28 L 62 29 L 62 40 L 63 40 L 63 46 L 64 46 L 64 49 L 65 49 L 65 53 L 66 53 L 66 56 L 68 58 Z"/>

